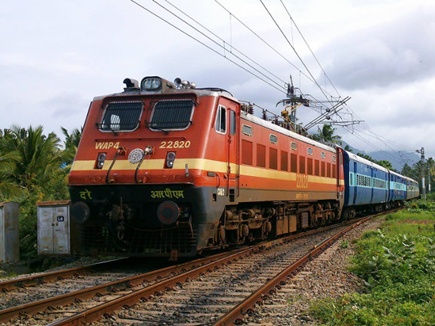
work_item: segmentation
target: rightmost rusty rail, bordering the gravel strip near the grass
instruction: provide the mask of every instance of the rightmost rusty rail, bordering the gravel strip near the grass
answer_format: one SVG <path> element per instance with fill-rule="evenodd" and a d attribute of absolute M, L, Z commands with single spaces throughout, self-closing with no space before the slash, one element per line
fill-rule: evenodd
<path fill-rule="evenodd" d="M 385 213 L 382 213 L 385 214 Z M 374 216 L 378 216 L 381 214 L 376 214 Z M 325 239 L 318 245 L 316 245 L 310 252 L 305 254 L 303 257 L 298 259 L 293 264 L 286 267 L 284 270 L 282 270 L 280 273 L 275 275 L 271 280 L 266 282 L 264 285 L 262 285 L 260 288 L 258 288 L 257 291 L 253 292 L 249 297 L 247 297 L 245 300 L 243 300 L 241 303 L 239 303 L 237 306 L 235 306 L 232 310 L 227 312 L 225 315 L 223 315 L 216 323 L 217 326 L 224 326 L 224 325 L 234 325 L 238 322 L 242 321 L 243 315 L 246 314 L 248 311 L 253 310 L 254 306 L 263 301 L 269 294 L 271 294 L 274 289 L 279 286 L 282 282 L 285 282 L 285 280 L 292 274 L 295 274 L 298 269 L 300 269 L 302 266 L 304 266 L 308 261 L 310 261 L 312 258 L 318 256 L 320 253 L 325 251 L 332 243 L 334 243 L 337 239 L 339 239 L 343 234 L 349 232 L 350 230 L 354 229 L 355 227 L 359 226 L 360 224 L 368 221 L 369 219 L 374 217 L 373 215 L 362 218 L 360 220 L 357 220 L 355 223 L 351 224 L 347 228 L 337 232 L 336 234 L 332 235 L 328 239 Z"/>

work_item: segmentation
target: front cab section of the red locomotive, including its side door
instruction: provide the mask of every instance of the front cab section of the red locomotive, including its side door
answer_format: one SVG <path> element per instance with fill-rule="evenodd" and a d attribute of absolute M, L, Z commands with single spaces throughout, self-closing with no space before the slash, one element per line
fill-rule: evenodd
<path fill-rule="evenodd" d="M 195 255 L 235 201 L 239 104 L 178 78 L 124 83 L 89 107 L 69 175 L 72 250 Z"/>

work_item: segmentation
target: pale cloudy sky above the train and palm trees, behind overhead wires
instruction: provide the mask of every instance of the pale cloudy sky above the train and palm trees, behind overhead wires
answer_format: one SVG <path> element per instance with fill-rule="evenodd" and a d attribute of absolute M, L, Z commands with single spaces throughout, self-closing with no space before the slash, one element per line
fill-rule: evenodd
<path fill-rule="evenodd" d="M 288 41 L 260 0 L 136 1 L 214 51 L 129 0 L 5 2 L 0 128 L 42 125 L 57 134 L 61 126 L 80 128 L 93 97 L 122 91 L 125 77 L 152 75 L 221 87 L 279 113 L 275 104 L 285 92 L 278 89 L 291 75 L 307 97 L 351 97 L 340 117 L 332 118 L 364 121 L 337 127 L 352 146 L 406 153 L 424 147 L 427 157 L 435 156 L 435 1 L 282 0 L 326 74 L 280 0 L 263 3 Z M 219 39 L 206 39 L 158 4 L 191 24 L 195 19 Z M 233 54 L 275 87 L 230 62 L 247 68 Z M 298 110 L 302 123 L 318 114 L 313 107 Z"/>

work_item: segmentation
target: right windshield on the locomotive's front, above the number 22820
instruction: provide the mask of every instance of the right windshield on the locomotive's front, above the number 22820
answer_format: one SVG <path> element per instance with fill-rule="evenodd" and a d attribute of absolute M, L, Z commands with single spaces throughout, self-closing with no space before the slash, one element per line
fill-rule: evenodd
<path fill-rule="evenodd" d="M 151 129 L 186 129 L 192 122 L 192 100 L 165 100 L 154 106 Z"/>

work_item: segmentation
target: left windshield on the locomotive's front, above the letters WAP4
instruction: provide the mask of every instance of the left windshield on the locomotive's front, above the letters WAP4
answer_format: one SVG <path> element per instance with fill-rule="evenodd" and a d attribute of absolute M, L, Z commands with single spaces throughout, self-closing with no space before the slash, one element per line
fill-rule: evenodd
<path fill-rule="evenodd" d="M 101 131 L 133 131 L 139 126 L 142 102 L 112 102 L 104 111 Z"/>

